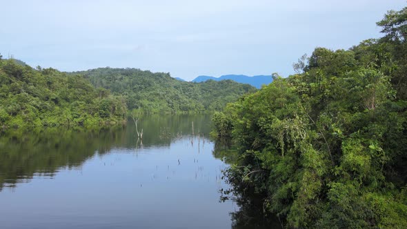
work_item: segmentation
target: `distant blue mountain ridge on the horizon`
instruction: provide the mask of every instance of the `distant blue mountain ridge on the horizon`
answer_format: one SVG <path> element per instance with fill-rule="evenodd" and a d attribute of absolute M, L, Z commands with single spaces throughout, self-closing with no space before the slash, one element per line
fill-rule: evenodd
<path fill-rule="evenodd" d="M 212 79 L 215 81 L 231 79 L 232 81 L 236 81 L 238 83 L 248 83 L 251 86 L 255 86 L 256 88 L 261 88 L 261 85 L 272 82 L 272 77 L 270 75 L 257 75 L 257 76 L 253 76 L 253 77 L 248 77 L 244 74 L 226 74 L 219 78 L 210 77 L 210 76 L 199 76 L 199 77 L 193 79 L 192 82 L 200 83 L 200 82 L 207 81 L 209 79 Z"/>

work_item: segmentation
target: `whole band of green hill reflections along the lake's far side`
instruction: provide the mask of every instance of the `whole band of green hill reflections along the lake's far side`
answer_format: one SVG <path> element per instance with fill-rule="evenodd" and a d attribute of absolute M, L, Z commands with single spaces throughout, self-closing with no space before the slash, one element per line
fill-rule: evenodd
<path fill-rule="evenodd" d="M 0 137 L 0 191 L 28 182 L 34 176 L 53 177 L 61 168 L 79 169 L 96 155 L 112 148 L 150 148 L 170 146 L 183 136 L 192 138 L 192 122 L 198 144 L 205 143 L 210 132 L 208 115 L 174 115 L 141 117 L 143 139 L 137 138 L 135 123 L 101 130 L 48 128 L 37 132 L 12 132 Z M 191 136 L 190 136 L 191 135 Z M 198 148 L 198 150 L 200 147 Z"/>

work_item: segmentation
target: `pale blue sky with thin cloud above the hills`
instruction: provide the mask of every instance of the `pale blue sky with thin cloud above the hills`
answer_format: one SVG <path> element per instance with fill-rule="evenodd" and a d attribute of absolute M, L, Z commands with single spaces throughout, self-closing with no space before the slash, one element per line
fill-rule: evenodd
<path fill-rule="evenodd" d="M 381 37 L 406 0 L 0 0 L 0 53 L 61 71 L 140 68 L 199 75 L 294 73 L 316 47 Z"/>

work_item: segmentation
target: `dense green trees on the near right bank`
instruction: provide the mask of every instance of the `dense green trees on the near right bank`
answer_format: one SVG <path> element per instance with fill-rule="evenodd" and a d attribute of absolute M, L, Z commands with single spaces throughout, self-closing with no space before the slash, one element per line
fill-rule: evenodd
<path fill-rule="evenodd" d="M 407 228 L 407 8 L 377 25 L 381 39 L 315 48 L 212 117 L 239 153 L 235 192 L 286 228 Z"/>

